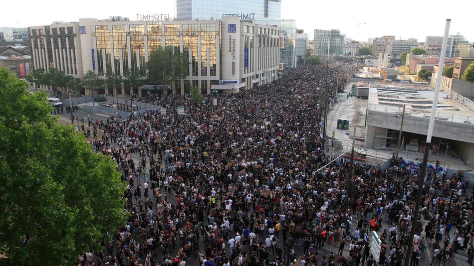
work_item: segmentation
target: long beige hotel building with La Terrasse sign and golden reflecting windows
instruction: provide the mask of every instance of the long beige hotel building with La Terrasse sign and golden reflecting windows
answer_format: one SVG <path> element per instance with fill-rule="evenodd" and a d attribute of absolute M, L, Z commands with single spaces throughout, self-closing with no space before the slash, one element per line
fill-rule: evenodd
<path fill-rule="evenodd" d="M 189 60 L 188 76 L 173 84 L 173 93 L 198 86 L 238 91 L 278 78 L 279 29 L 241 21 L 138 20 L 125 18 L 30 27 L 34 68 L 57 68 L 77 79 L 88 70 L 104 77 L 108 70 L 124 76 L 127 70 L 145 72 L 150 53 L 160 46 L 175 46 Z M 222 47 L 221 47 L 222 45 Z M 144 86 L 157 90 L 156 86 Z M 132 94 L 142 95 L 140 89 Z M 125 95 L 124 89 L 106 91 Z"/>

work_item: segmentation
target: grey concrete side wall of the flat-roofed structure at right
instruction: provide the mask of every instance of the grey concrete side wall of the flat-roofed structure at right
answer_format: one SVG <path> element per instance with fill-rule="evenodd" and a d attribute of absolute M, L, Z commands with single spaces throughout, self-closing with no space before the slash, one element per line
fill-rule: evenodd
<path fill-rule="evenodd" d="M 372 127 L 400 130 L 401 119 L 394 114 L 377 111 L 367 112 L 367 125 Z M 405 116 L 403 131 L 426 135 L 429 119 Z M 367 130 L 369 131 L 369 129 Z M 474 143 L 474 125 L 435 120 L 433 136 Z M 367 140 L 367 137 L 366 137 Z"/>

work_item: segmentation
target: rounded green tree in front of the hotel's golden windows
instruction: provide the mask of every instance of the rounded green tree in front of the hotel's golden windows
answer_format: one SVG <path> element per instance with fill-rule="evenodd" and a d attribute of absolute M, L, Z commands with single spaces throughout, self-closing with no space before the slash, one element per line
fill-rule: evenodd
<path fill-rule="evenodd" d="M 189 62 L 184 53 L 173 46 L 159 47 L 150 54 L 147 64 L 148 79 L 163 86 L 166 95 L 168 85 L 189 74 Z"/>

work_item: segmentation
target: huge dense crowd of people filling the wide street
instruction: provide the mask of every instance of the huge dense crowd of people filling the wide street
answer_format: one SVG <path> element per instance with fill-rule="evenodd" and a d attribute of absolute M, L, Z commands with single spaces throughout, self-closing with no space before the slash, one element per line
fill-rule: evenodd
<path fill-rule="evenodd" d="M 358 69 L 303 66 L 270 84 L 221 95 L 217 106 L 207 97 L 199 104 L 187 96 L 153 98 L 167 115 L 156 110 L 92 121 L 92 148 L 117 162 L 130 217 L 126 227 L 109 232 L 112 243 L 79 256 L 78 264 L 401 265 L 416 220 L 417 173 L 356 165 L 350 196 L 347 163 L 336 160 L 315 172 L 330 160 L 321 137 L 324 93 L 333 96 L 336 84 L 341 91 Z M 184 115 L 174 112 L 177 106 L 186 107 Z M 440 265 L 473 240 L 467 182 L 434 180 L 425 188 L 430 222 L 417 225 L 412 265 L 425 246 Z M 444 208 L 440 198 L 450 189 L 459 193 Z M 446 241 L 450 230 L 456 239 Z M 370 231 L 381 239 L 379 260 L 369 252 Z M 338 251 L 322 256 L 325 245 Z"/>

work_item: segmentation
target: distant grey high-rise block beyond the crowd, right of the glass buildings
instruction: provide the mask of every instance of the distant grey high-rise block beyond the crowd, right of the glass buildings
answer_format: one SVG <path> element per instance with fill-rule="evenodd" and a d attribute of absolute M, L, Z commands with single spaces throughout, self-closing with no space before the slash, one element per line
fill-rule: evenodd
<path fill-rule="evenodd" d="M 341 55 L 344 45 L 344 36 L 338 29 L 315 29 L 314 30 L 314 54 L 327 55 L 328 47 L 330 54 Z"/>

